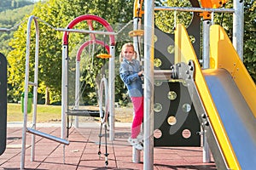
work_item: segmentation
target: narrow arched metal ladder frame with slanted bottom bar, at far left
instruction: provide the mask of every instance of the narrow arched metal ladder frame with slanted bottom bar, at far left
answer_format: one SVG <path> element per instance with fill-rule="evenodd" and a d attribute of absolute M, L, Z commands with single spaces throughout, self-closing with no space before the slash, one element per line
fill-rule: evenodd
<path fill-rule="evenodd" d="M 29 59 L 30 59 L 30 39 L 31 39 L 31 25 L 34 21 L 36 28 L 36 46 L 35 46 L 35 63 L 34 63 L 34 80 L 29 82 Z M 21 145 L 21 159 L 20 159 L 20 169 L 24 169 L 25 165 L 25 154 L 26 154 L 26 133 L 32 133 L 32 150 L 31 150 L 31 161 L 34 161 L 35 156 L 35 135 L 44 137 L 46 139 L 54 140 L 61 144 L 69 144 L 66 139 L 61 139 L 53 135 L 40 132 L 36 130 L 37 124 L 37 105 L 33 105 L 33 116 L 32 116 L 32 127 L 27 127 L 27 100 L 28 100 L 28 86 L 33 87 L 33 103 L 38 103 L 38 53 L 39 53 L 39 29 L 38 20 L 35 16 L 31 16 L 27 22 L 26 31 L 26 76 L 25 76 L 25 92 L 24 92 L 24 117 L 23 117 L 23 129 L 22 129 L 22 145 Z M 64 154 L 64 151 L 63 151 Z"/>

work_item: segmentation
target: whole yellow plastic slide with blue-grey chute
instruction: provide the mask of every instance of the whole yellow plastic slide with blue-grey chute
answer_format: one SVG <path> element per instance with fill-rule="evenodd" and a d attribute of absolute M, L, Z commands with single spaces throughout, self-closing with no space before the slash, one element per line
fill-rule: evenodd
<path fill-rule="evenodd" d="M 176 63 L 194 62 L 195 86 L 226 166 L 229 169 L 255 167 L 256 88 L 224 29 L 211 26 L 211 68 L 207 70 L 201 70 L 182 25 L 176 27 L 175 43 Z"/>

